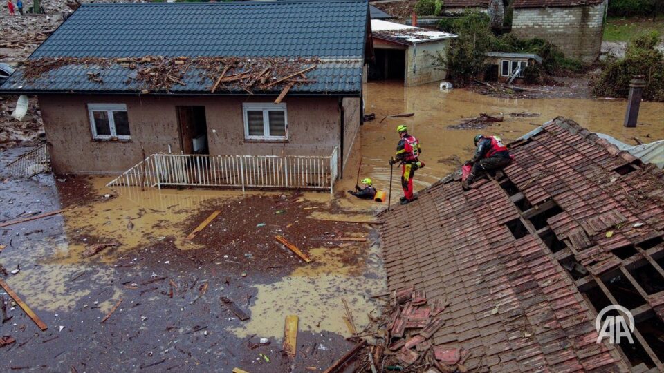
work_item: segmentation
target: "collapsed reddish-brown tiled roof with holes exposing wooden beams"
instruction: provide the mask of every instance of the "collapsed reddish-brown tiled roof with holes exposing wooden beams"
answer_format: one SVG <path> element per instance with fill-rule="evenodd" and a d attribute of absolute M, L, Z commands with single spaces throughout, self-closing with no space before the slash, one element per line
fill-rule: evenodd
<path fill-rule="evenodd" d="M 664 171 L 561 117 L 510 153 L 470 191 L 450 175 L 382 213 L 389 289 L 445 299 L 434 342 L 468 367 L 661 371 Z M 636 320 L 628 348 L 596 343 L 611 304 Z"/>

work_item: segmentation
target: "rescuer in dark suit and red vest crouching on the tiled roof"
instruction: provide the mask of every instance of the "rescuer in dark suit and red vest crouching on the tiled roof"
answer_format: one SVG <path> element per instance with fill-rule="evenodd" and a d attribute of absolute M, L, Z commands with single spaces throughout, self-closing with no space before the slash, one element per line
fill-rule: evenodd
<path fill-rule="evenodd" d="M 477 149 L 472 156 L 472 160 L 465 162 L 467 166 L 472 164 L 472 169 L 470 169 L 468 178 L 461 183 L 463 189 L 469 189 L 470 184 L 482 172 L 502 169 L 512 162 L 507 146 L 503 145 L 500 137 L 477 135 L 473 141 Z"/>

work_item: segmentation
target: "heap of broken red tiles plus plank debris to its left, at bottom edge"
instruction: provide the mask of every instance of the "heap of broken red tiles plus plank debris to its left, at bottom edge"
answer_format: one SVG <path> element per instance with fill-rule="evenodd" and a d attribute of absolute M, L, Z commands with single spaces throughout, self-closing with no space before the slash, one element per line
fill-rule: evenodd
<path fill-rule="evenodd" d="M 365 347 L 360 341 L 351 350 L 358 354 L 360 348 L 365 347 L 356 359 L 355 372 L 468 372 L 463 364 L 470 357 L 469 350 L 434 345 L 432 339 L 445 325 L 441 313 L 447 303 L 447 299 L 430 301 L 424 291 L 414 288 L 391 293 L 389 318 L 379 321 L 379 329 L 371 333 L 377 336 L 376 341 L 382 342 Z M 338 362 L 332 371 L 342 366 Z"/>

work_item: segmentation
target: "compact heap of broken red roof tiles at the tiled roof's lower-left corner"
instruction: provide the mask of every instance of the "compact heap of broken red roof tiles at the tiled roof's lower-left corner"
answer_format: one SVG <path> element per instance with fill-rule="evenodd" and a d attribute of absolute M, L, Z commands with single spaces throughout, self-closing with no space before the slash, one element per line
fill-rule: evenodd
<path fill-rule="evenodd" d="M 404 289 L 392 296 L 392 313 L 387 323 L 387 348 L 383 367 L 400 366 L 416 372 L 466 372 L 463 366 L 470 352 L 463 347 L 434 345 L 432 336 L 445 325 L 441 313 L 446 300 L 427 300 L 425 292 Z"/>

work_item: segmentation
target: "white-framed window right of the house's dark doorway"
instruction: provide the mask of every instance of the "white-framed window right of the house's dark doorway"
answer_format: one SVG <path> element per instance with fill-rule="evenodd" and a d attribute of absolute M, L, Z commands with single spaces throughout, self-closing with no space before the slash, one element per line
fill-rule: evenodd
<path fill-rule="evenodd" d="M 246 140 L 287 140 L 286 104 L 242 104 Z"/>

